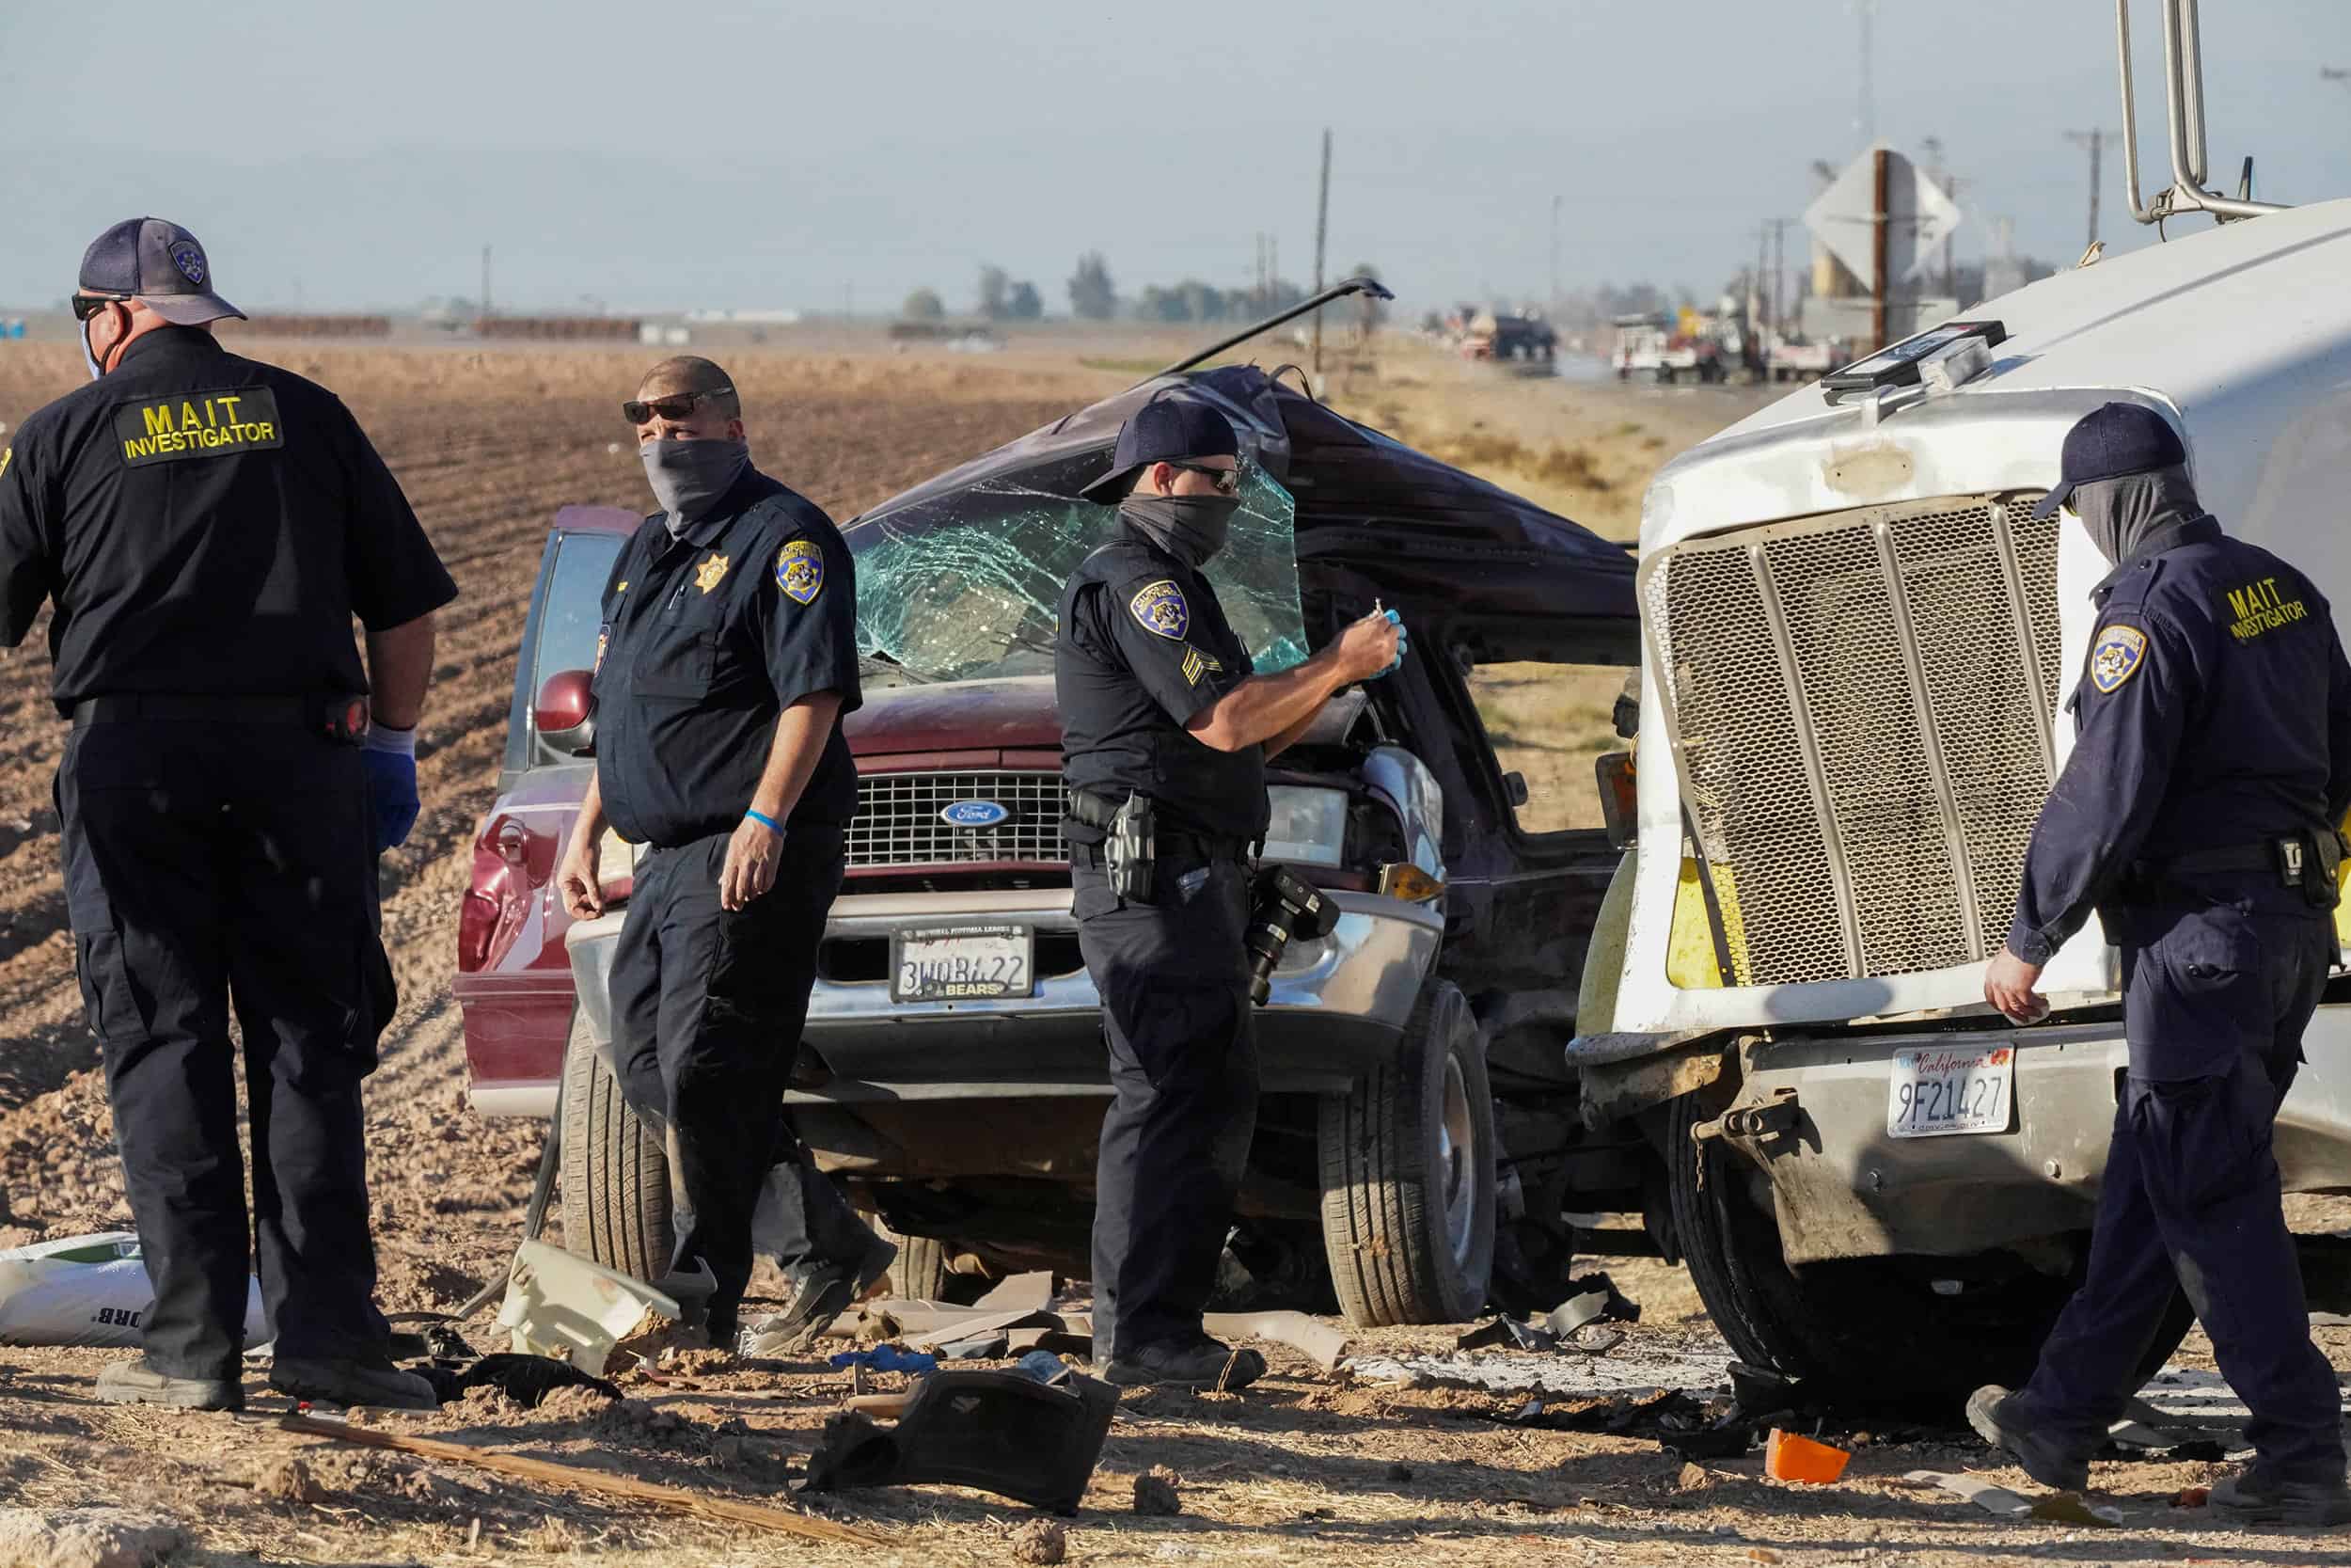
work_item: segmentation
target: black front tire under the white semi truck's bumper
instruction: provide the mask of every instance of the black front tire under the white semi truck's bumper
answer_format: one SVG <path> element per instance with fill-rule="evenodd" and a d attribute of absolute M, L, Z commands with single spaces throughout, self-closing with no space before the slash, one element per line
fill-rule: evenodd
<path fill-rule="evenodd" d="M 1737 1157 L 1719 1143 L 1702 1152 L 1690 1143 L 1704 1119 L 1700 1095 L 1674 1103 L 1667 1194 L 1690 1281 L 1742 1361 L 1881 1403 L 1944 1410 L 1987 1382 L 2017 1387 L 2031 1378 L 2041 1340 L 2078 1281 L 2020 1272 L 1940 1295 L 1930 1286 L 1935 1260 L 1923 1258 L 1850 1258 L 1799 1274 L 1780 1253 L 1780 1225 L 1751 1201 Z M 1947 1269 L 1956 1265 L 1944 1260 Z M 2175 1291 L 2142 1378 L 2161 1371 L 2193 1326 Z"/>

